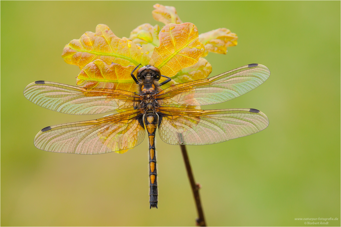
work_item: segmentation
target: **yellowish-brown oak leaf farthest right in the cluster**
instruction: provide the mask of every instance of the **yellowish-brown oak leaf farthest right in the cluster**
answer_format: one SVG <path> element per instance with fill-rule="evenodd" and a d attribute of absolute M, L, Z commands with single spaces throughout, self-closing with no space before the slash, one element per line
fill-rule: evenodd
<path fill-rule="evenodd" d="M 199 35 L 199 40 L 205 45 L 205 53 L 208 52 L 226 54 L 227 47 L 237 45 L 238 36 L 226 28 L 218 28 Z"/>

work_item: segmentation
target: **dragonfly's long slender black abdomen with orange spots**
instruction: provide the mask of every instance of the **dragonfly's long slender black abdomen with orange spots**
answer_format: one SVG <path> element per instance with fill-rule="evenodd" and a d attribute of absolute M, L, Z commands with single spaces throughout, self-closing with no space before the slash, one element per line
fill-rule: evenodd
<path fill-rule="evenodd" d="M 145 126 L 149 139 L 149 204 L 150 208 L 158 208 L 158 180 L 156 169 L 156 150 L 155 150 L 155 132 L 158 126 L 158 115 L 146 113 Z"/>

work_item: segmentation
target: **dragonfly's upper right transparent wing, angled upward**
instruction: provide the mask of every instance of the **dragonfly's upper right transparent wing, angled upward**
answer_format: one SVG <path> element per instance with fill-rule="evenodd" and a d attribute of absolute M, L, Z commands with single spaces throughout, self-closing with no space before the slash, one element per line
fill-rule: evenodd
<path fill-rule="evenodd" d="M 264 65 L 250 64 L 208 79 L 170 86 L 155 98 L 164 106 L 201 106 L 224 102 L 261 85 L 270 76 Z"/>

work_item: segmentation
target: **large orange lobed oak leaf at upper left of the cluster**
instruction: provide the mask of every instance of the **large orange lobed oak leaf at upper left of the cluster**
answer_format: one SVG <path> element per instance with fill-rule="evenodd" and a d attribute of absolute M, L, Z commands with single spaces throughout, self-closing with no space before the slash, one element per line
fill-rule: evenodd
<path fill-rule="evenodd" d="M 117 37 L 106 25 L 98 25 L 96 32 L 86 32 L 79 39 L 73 39 L 62 53 L 68 64 L 83 68 L 88 63 L 101 59 L 107 64 L 112 62 L 122 66 L 148 63 L 148 55 L 142 47 L 128 38 Z"/>

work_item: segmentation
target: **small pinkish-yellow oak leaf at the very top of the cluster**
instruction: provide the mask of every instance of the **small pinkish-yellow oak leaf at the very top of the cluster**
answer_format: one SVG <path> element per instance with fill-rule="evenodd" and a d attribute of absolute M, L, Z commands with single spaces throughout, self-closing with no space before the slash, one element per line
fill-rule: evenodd
<path fill-rule="evenodd" d="M 152 11 L 153 18 L 167 25 L 168 23 L 183 23 L 178 16 L 175 7 L 164 6 L 160 4 L 153 5 L 155 10 Z"/>

